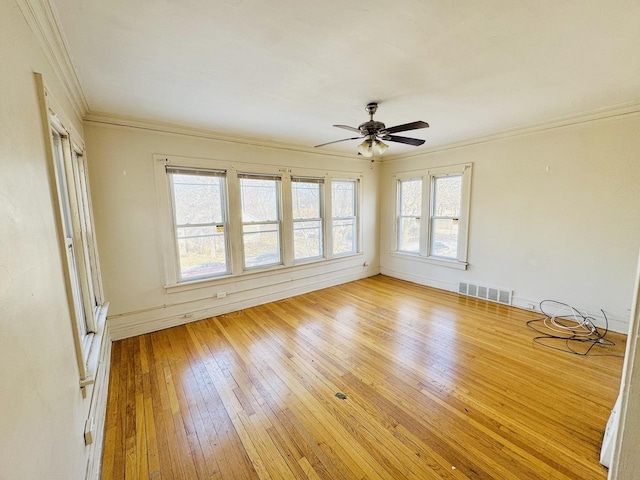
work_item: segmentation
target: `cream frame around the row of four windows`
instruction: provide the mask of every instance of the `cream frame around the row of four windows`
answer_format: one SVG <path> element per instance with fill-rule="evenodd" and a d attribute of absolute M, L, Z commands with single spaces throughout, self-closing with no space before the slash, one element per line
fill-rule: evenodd
<path fill-rule="evenodd" d="M 305 266 L 325 261 L 342 261 L 356 255 L 361 255 L 361 216 L 360 205 L 362 186 L 360 173 L 318 171 L 315 169 L 296 168 L 291 169 L 276 165 L 259 165 L 241 162 L 229 162 L 216 159 L 203 159 L 193 157 L 180 157 L 168 155 L 153 155 L 154 171 L 156 180 L 156 195 L 159 212 L 160 237 L 162 240 L 165 290 L 167 293 L 183 292 L 195 288 L 206 287 L 216 284 L 216 282 L 233 281 L 235 277 L 245 275 L 268 274 L 273 270 L 288 268 L 305 268 Z M 171 200 L 171 187 L 169 185 L 166 166 L 171 165 L 176 168 L 193 168 L 204 170 L 225 170 L 226 171 L 226 193 L 227 193 L 227 221 L 228 221 L 228 242 L 229 242 L 229 262 L 230 271 L 228 275 L 207 276 L 202 278 L 180 281 L 179 264 L 177 262 L 177 246 L 175 241 L 175 226 L 173 217 L 173 206 Z M 270 264 L 258 267 L 244 268 L 243 245 L 242 245 L 242 205 L 240 196 L 240 182 L 238 176 L 242 175 L 272 176 L 280 178 L 279 208 L 280 211 L 280 248 L 282 263 Z M 322 179 L 324 183 L 323 204 L 323 251 L 321 257 L 294 260 L 293 246 L 293 209 L 291 179 L 293 178 L 316 178 Z M 355 182 L 355 240 L 354 252 L 332 255 L 332 217 L 328 212 L 332 212 L 331 194 L 328 192 L 333 180 Z"/>

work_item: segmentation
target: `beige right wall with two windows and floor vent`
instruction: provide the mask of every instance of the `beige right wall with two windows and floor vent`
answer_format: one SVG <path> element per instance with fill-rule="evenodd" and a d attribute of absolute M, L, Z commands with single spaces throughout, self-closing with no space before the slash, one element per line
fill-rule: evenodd
<path fill-rule="evenodd" d="M 393 173 L 473 162 L 469 269 L 390 253 L 394 202 L 383 202 L 383 273 L 457 290 L 459 281 L 513 290 L 526 307 L 554 299 L 627 331 L 640 245 L 640 115 L 628 115 L 385 162 Z M 601 315 L 601 314 L 600 314 Z"/>

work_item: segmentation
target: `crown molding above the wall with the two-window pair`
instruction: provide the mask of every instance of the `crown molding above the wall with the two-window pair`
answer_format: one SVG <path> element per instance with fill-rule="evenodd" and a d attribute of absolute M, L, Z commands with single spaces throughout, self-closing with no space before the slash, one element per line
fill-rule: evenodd
<path fill-rule="evenodd" d="M 388 156 L 381 159 L 383 163 L 389 163 L 399 160 L 407 160 L 410 158 L 419 157 L 422 155 L 428 155 L 431 153 L 443 152 L 445 150 L 453 150 L 456 148 L 468 147 L 471 145 L 478 145 L 482 143 L 495 142 L 498 140 L 505 140 L 508 138 L 519 137 L 523 135 L 531 135 L 535 133 L 544 132 L 546 130 L 555 130 L 559 128 L 573 127 L 576 125 L 593 123 L 602 120 L 609 120 L 617 117 L 631 116 L 640 114 L 640 102 L 631 101 L 622 103 L 615 106 L 600 108 L 587 113 L 579 113 L 573 115 L 566 115 L 563 117 L 557 117 L 544 122 L 538 122 L 529 124 L 522 127 L 510 128 L 502 130 L 500 132 L 484 135 L 480 137 L 474 137 L 460 142 L 453 142 L 443 145 L 436 145 L 431 148 L 422 149 L 419 152 L 399 154 L 394 156 Z"/>

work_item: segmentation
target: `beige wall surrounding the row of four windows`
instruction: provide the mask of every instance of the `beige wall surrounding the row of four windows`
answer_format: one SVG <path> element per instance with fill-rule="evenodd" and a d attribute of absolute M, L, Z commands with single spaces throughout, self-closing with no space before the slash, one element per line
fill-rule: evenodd
<path fill-rule="evenodd" d="M 378 166 L 369 161 L 252 146 L 96 121 L 85 125 L 109 322 L 115 338 L 238 310 L 378 273 Z M 154 154 L 362 175 L 362 254 L 279 268 L 182 292 L 165 290 Z M 240 168 L 240 167 L 238 167 Z M 294 172 L 295 173 L 295 172 Z M 370 262 L 368 267 L 365 262 Z M 225 291 L 224 299 L 216 293 Z"/>

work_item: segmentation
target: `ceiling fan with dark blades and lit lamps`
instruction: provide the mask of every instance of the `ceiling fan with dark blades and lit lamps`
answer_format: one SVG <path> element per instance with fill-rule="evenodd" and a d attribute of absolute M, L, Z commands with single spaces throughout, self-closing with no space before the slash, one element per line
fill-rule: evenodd
<path fill-rule="evenodd" d="M 358 145 L 358 155 L 362 155 L 364 157 L 373 157 L 373 149 L 375 148 L 379 154 L 383 154 L 389 146 L 383 142 L 397 142 L 397 143 L 405 143 L 407 145 L 419 146 L 422 145 L 425 141 L 420 140 L 418 138 L 409 138 L 409 137 L 400 137 L 398 135 L 392 135 L 396 132 L 406 132 L 407 130 L 418 130 L 420 128 L 427 128 L 429 124 L 427 122 L 423 122 L 421 120 L 417 122 L 405 123 L 402 125 L 396 125 L 395 127 L 385 127 L 384 123 L 376 122 L 373 119 L 373 115 L 378 110 L 378 104 L 375 102 L 369 103 L 365 110 L 369 114 L 369 121 L 364 122 L 358 126 L 358 128 L 350 127 L 348 125 L 334 125 L 334 127 L 344 128 L 345 130 L 350 130 L 352 132 L 357 132 L 360 134 L 358 137 L 351 138 L 343 138 L 342 140 L 336 140 L 333 142 L 322 143 L 320 145 L 316 145 L 315 147 L 324 147 L 325 145 L 330 145 L 332 143 L 338 142 L 346 142 L 347 140 L 360 140 L 364 139 L 363 142 Z"/>

